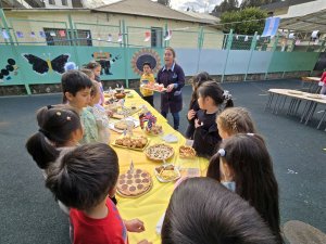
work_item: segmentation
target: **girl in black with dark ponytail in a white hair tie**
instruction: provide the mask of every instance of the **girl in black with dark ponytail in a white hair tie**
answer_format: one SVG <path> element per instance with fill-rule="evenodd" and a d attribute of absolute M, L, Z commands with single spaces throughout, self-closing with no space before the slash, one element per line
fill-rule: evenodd
<path fill-rule="evenodd" d="M 225 107 L 233 106 L 234 102 L 216 81 L 206 81 L 198 89 L 198 104 L 200 110 L 195 119 L 192 147 L 199 156 L 211 157 L 222 141 L 216 116 Z"/>

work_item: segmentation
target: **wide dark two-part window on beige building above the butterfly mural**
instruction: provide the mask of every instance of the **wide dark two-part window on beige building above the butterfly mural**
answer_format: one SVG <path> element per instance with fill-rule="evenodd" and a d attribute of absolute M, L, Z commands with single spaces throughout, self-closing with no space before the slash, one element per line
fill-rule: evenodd
<path fill-rule="evenodd" d="M 71 46 L 74 35 L 70 29 L 43 28 L 48 46 Z M 90 30 L 75 29 L 78 46 L 92 46 Z"/>

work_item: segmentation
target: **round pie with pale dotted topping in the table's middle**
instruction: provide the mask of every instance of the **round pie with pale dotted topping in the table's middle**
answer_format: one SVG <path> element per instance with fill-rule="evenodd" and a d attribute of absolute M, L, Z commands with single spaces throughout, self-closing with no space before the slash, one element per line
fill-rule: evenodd
<path fill-rule="evenodd" d="M 173 156 L 174 149 L 164 143 L 153 144 L 146 149 L 145 154 L 151 160 L 163 162 Z"/>

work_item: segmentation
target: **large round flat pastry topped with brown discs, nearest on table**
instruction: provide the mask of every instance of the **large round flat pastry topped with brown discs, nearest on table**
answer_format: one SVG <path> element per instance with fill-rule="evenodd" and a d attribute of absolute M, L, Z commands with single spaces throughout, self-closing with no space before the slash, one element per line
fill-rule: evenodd
<path fill-rule="evenodd" d="M 152 189 L 151 175 L 143 169 L 133 169 L 120 175 L 116 192 L 123 197 L 139 197 Z"/>

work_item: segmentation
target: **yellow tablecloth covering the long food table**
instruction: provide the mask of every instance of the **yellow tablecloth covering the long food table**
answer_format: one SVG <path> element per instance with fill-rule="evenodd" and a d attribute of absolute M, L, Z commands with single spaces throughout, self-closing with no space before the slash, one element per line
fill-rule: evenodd
<path fill-rule="evenodd" d="M 146 105 L 154 116 L 158 118 L 158 125 L 162 125 L 163 133 L 174 133 L 178 138 L 177 143 L 170 143 L 174 147 L 174 156 L 167 160 L 167 163 L 181 166 L 184 168 L 196 167 L 200 168 L 201 175 L 203 176 L 208 168 L 208 159 L 202 157 L 197 157 L 195 159 L 183 159 L 178 157 L 178 149 L 180 145 L 186 143 L 186 139 L 179 132 L 175 131 L 168 124 L 167 120 L 151 107 L 140 95 L 130 90 L 133 98 L 126 98 L 125 105 Z M 138 114 L 135 114 L 134 117 L 138 117 Z M 134 129 L 134 136 L 146 134 L 141 131 L 140 127 Z M 111 143 L 121 134 L 111 130 Z M 150 144 L 162 143 L 162 136 L 151 137 L 149 136 Z M 122 147 L 113 146 L 118 155 L 120 169 L 121 174 L 128 170 L 130 162 L 134 162 L 135 168 L 141 168 L 149 171 L 152 175 L 153 188 L 147 194 L 138 198 L 124 198 L 117 195 L 117 207 L 123 219 L 133 219 L 138 218 L 145 222 L 146 231 L 142 233 L 128 233 L 129 243 L 138 243 L 142 239 L 147 239 L 152 243 L 161 243 L 161 237 L 156 234 L 155 227 L 162 215 L 165 213 L 170 197 L 174 190 L 175 182 L 161 183 L 158 181 L 154 175 L 154 167 L 159 166 L 161 163 L 155 163 L 149 160 L 143 152 L 133 151 Z"/>

